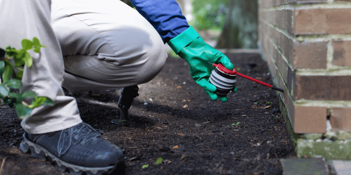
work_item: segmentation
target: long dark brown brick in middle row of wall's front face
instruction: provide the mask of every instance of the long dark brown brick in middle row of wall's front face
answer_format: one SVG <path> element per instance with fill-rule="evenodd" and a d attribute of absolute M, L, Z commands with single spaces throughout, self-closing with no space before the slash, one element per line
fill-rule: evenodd
<path fill-rule="evenodd" d="M 351 76 L 296 75 L 295 86 L 296 100 L 351 100 Z"/>

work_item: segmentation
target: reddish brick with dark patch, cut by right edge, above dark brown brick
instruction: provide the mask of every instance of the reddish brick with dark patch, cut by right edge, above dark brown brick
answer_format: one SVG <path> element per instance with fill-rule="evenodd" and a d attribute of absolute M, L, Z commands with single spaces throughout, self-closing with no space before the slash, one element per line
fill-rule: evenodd
<path fill-rule="evenodd" d="M 351 66 L 351 41 L 332 41 L 333 42 L 333 65 Z"/>

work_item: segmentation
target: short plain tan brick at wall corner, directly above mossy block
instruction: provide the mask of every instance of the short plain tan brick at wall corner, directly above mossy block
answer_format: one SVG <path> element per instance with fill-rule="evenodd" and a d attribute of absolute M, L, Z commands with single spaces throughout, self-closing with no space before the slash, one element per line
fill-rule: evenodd
<path fill-rule="evenodd" d="M 327 107 L 295 106 L 294 133 L 325 133 Z"/>

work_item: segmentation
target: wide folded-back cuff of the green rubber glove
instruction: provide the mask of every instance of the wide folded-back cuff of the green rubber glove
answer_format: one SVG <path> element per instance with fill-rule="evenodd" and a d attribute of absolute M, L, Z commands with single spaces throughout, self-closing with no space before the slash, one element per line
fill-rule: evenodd
<path fill-rule="evenodd" d="M 172 40 L 168 42 L 168 45 L 178 55 L 181 49 L 183 49 L 189 43 L 193 42 L 198 37 L 200 37 L 200 35 L 196 32 L 196 30 L 192 26 L 190 26 L 188 29 L 184 30 L 181 34 L 172 38 Z"/>

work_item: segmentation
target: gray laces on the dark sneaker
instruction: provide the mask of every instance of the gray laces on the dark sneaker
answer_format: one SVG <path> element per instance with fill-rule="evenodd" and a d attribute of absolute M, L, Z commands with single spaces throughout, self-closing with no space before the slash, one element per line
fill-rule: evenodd
<path fill-rule="evenodd" d="M 79 126 L 81 127 L 79 128 Z M 103 134 L 103 133 L 104 132 L 102 132 L 101 130 L 96 130 L 92 126 L 84 122 L 62 130 L 60 134 L 59 142 L 57 144 L 57 151 L 59 154 L 58 157 L 60 157 L 61 155 L 65 154 L 68 151 L 68 149 L 73 144 L 74 140 L 76 144 L 80 143 L 84 145 L 91 141 L 96 141 L 100 137 L 100 134 Z M 68 145 L 67 143 L 65 143 L 67 142 L 67 139 L 66 139 L 67 137 L 69 137 Z"/>

